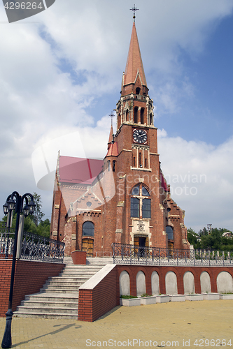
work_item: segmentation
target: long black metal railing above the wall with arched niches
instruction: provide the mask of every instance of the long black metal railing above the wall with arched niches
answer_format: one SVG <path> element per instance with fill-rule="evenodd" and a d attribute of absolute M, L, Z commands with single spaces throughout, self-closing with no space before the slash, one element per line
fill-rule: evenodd
<path fill-rule="evenodd" d="M 113 243 L 113 263 L 130 265 L 233 266 L 232 251 L 141 247 Z"/>

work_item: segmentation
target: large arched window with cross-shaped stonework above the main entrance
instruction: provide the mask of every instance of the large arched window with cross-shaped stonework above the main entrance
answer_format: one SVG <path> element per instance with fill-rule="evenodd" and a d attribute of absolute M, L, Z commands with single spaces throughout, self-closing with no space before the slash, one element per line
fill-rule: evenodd
<path fill-rule="evenodd" d="M 131 217 L 150 218 L 150 193 L 143 184 L 134 186 L 131 197 Z"/>

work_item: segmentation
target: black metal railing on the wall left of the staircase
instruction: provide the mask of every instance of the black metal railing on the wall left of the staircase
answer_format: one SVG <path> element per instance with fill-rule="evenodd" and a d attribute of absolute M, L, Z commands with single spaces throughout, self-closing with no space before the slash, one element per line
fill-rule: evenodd
<path fill-rule="evenodd" d="M 0 230 L 0 258 L 12 258 L 14 233 Z M 32 232 L 23 232 L 20 259 L 41 260 L 43 262 L 63 262 L 64 242 L 49 239 Z"/>

